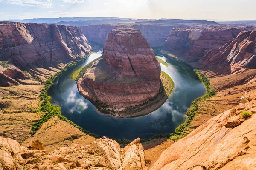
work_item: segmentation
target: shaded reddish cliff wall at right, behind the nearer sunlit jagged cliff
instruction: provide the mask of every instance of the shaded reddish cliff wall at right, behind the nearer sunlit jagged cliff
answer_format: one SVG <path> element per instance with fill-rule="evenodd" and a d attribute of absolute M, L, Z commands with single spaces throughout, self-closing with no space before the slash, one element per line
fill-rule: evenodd
<path fill-rule="evenodd" d="M 241 31 L 255 27 L 192 27 L 174 28 L 164 43 L 163 50 L 174 52 L 180 59 L 196 62 L 208 49 L 218 50 Z"/>

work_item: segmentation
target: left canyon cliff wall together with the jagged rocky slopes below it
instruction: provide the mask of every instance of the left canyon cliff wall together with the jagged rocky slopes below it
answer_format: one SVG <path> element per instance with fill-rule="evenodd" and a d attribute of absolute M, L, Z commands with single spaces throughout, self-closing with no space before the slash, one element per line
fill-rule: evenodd
<path fill-rule="evenodd" d="M 91 49 L 78 27 L 0 22 L 0 85 L 32 80 L 28 72 L 40 79 L 45 72 L 39 68 L 56 71 L 54 68 L 63 68 L 63 64 L 80 59 Z"/>

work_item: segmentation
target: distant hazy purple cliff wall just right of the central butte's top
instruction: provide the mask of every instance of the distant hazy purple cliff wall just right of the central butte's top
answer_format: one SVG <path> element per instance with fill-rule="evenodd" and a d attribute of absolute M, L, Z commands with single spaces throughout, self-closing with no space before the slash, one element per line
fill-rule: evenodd
<path fill-rule="evenodd" d="M 135 24 L 133 28 L 141 31 L 151 47 L 161 47 L 175 26 Z"/>

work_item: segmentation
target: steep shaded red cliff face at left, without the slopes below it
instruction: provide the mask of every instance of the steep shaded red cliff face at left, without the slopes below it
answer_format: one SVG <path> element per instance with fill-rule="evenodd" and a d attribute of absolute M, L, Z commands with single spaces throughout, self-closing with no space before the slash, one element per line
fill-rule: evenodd
<path fill-rule="evenodd" d="M 91 50 L 80 28 L 0 23 L 0 60 L 18 67 L 27 64 L 56 66 L 84 56 Z"/>

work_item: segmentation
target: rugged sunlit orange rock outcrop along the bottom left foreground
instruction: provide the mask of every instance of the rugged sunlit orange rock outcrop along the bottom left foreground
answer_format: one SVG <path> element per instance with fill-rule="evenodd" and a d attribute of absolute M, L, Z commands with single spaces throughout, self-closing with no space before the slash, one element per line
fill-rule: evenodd
<path fill-rule="evenodd" d="M 31 147 L 33 146 L 33 147 Z M 34 170 L 140 170 L 145 168 L 145 156 L 140 138 L 121 149 L 112 139 L 103 137 L 90 145 L 58 147 L 46 152 L 41 142 L 33 141 L 25 148 L 10 138 L 0 137 L 0 169 Z"/>

